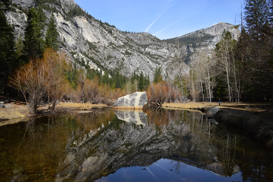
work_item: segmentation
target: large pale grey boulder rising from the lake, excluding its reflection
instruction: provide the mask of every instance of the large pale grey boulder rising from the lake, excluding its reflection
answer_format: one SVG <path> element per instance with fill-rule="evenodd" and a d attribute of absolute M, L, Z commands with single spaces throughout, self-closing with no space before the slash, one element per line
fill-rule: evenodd
<path fill-rule="evenodd" d="M 131 95 L 120 97 L 114 103 L 113 108 L 134 108 L 142 109 L 147 104 L 146 92 L 136 92 Z"/>

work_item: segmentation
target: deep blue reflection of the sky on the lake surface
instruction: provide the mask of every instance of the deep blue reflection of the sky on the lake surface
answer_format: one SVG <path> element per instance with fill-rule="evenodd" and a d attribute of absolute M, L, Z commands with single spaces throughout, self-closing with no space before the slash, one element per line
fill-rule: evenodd
<path fill-rule="evenodd" d="M 179 166 L 179 169 L 178 169 Z M 128 167 L 96 181 L 241 181 L 241 172 L 231 177 L 216 175 L 210 171 L 183 162 L 161 158 L 148 167 Z"/>

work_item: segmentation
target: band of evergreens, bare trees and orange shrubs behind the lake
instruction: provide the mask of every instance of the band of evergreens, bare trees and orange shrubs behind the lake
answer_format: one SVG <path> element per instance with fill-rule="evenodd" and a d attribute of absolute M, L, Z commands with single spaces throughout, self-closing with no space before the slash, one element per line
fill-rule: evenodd
<path fill-rule="evenodd" d="M 43 1 L 36 2 L 45 6 Z M 66 62 L 64 56 L 57 54 L 62 42 L 58 41 L 54 16 L 52 14 L 46 24 L 41 6 L 28 10 L 24 37 L 15 41 L 13 27 L 5 17 L 5 12 L 12 11 L 13 6 L 8 0 L 0 4 L 0 94 L 29 103 L 32 113 L 36 113 L 44 103 L 49 105 L 48 109 L 54 109 L 56 102 L 63 99 L 111 104 L 110 100 L 139 90 L 146 90 L 151 105 L 186 100 L 212 102 L 217 98 L 228 102 L 272 99 L 272 1 L 245 0 L 241 25 L 234 26 L 240 29 L 239 39 L 235 40 L 229 31 L 224 31 L 221 41 L 209 54 L 206 50 L 198 51 L 194 60 L 189 61 L 185 54 L 180 54 L 178 46 L 176 64 L 183 70 L 187 62 L 190 72 L 181 72 L 174 80 L 162 75 L 160 65 L 152 80 L 137 70 L 131 78 L 119 74 L 118 69 L 99 72 L 90 69 L 77 56 L 75 61 L 81 65 L 80 69 L 76 62 Z M 67 13 L 67 17 L 83 13 L 76 6 Z M 185 37 L 179 39 L 178 44 L 181 47 L 196 45 L 207 38 L 210 36 L 206 34 L 200 39 Z M 169 42 L 177 43 L 175 40 Z M 99 60 L 94 61 L 99 65 Z"/>

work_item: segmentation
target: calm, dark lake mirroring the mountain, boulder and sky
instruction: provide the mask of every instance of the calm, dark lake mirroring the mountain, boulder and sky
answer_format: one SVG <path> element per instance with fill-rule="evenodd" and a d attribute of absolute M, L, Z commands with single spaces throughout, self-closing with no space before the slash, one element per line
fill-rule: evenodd
<path fill-rule="evenodd" d="M 273 154 L 201 112 L 93 108 L 0 126 L 0 181 L 273 181 Z"/>

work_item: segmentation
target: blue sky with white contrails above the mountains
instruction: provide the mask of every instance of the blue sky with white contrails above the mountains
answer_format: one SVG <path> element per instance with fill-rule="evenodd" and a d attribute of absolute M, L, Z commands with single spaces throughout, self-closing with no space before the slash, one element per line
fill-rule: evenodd
<path fill-rule="evenodd" d="M 98 20 L 121 31 L 167 39 L 218 22 L 240 24 L 243 0 L 74 0 Z M 236 19 L 236 22 L 235 22 Z"/>

